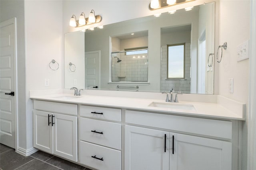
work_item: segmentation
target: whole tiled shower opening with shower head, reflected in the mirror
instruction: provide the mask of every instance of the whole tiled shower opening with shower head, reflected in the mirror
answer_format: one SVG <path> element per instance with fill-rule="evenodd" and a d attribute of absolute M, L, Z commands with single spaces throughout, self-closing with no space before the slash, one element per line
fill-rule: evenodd
<path fill-rule="evenodd" d="M 148 82 L 148 30 L 111 37 L 112 82 Z"/>

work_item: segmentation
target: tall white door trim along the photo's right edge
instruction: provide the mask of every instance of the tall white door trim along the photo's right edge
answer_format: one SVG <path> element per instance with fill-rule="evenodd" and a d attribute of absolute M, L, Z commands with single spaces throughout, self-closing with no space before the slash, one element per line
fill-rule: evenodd
<path fill-rule="evenodd" d="M 250 73 L 248 99 L 247 169 L 256 169 L 256 1 L 250 1 Z"/>

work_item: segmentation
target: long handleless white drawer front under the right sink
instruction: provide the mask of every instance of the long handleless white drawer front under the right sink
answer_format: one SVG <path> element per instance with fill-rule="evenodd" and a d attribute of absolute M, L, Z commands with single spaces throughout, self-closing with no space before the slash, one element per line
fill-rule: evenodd
<path fill-rule="evenodd" d="M 126 123 L 232 139 L 232 121 L 126 110 Z"/>

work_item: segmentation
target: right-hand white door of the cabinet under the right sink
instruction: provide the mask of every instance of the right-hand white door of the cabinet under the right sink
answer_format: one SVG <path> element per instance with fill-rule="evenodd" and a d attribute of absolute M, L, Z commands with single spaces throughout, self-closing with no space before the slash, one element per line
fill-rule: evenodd
<path fill-rule="evenodd" d="M 170 170 L 231 170 L 231 159 L 230 142 L 170 133 Z"/>

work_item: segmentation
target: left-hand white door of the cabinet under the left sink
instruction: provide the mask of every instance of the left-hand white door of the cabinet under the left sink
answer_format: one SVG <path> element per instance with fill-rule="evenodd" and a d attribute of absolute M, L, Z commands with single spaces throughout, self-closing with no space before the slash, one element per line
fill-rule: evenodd
<path fill-rule="evenodd" d="M 52 114 L 45 111 L 33 112 L 34 147 L 52 153 Z"/>

